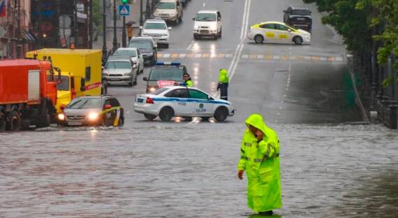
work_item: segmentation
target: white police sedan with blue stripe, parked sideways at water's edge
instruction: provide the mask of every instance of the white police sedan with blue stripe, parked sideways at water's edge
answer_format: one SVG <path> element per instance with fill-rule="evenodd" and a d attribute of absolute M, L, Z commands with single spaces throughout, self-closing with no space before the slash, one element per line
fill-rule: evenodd
<path fill-rule="evenodd" d="M 149 120 L 159 116 L 166 122 L 172 117 L 214 117 L 223 122 L 228 116 L 234 115 L 229 101 L 214 99 L 200 89 L 181 85 L 159 87 L 149 94 L 138 94 L 134 111 L 144 114 Z"/>

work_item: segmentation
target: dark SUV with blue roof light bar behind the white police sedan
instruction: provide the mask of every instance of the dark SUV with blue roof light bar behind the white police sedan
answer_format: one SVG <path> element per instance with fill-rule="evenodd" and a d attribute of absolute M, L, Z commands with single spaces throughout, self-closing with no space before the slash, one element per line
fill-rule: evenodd
<path fill-rule="evenodd" d="M 188 73 L 186 66 L 177 62 L 156 62 L 151 68 L 147 81 L 147 92 L 153 92 L 158 87 L 174 85 L 175 82 L 184 82 L 183 75 Z"/>

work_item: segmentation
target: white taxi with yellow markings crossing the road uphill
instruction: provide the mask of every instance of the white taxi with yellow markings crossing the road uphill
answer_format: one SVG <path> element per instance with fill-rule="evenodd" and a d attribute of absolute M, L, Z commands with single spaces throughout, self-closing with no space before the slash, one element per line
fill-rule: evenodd
<path fill-rule="evenodd" d="M 262 22 L 251 25 L 247 38 L 256 43 L 311 43 L 311 34 L 302 29 L 295 29 L 283 22 Z"/>

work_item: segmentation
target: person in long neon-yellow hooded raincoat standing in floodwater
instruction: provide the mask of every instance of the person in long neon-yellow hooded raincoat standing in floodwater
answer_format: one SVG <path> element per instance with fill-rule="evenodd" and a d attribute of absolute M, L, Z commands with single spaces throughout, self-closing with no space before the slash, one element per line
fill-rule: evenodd
<path fill-rule="evenodd" d="M 246 126 L 237 177 L 242 180 L 246 170 L 249 208 L 262 215 L 272 215 L 272 210 L 282 207 L 279 139 L 259 114 L 250 115 Z"/>

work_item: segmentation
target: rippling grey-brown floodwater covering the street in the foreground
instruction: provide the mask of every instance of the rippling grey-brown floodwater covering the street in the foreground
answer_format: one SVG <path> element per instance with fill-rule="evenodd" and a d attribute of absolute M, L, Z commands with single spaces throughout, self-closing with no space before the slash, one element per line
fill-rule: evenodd
<path fill-rule="evenodd" d="M 269 124 L 281 140 L 273 217 L 398 217 L 398 133 Z M 0 217 L 259 217 L 236 177 L 244 124 L 135 122 L 0 134 Z"/>

